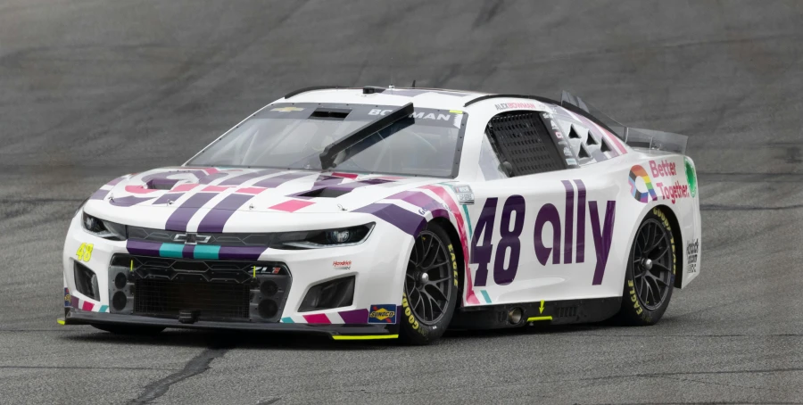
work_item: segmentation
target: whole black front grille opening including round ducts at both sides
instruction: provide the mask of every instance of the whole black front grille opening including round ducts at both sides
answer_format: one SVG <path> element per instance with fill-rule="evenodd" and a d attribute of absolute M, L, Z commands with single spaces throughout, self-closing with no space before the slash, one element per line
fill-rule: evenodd
<path fill-rule="evenodd" d="M 118 253 L 110 312 L 158 318 L 278 322 L 292 279 L 280 261 L 197 260 Z"/>

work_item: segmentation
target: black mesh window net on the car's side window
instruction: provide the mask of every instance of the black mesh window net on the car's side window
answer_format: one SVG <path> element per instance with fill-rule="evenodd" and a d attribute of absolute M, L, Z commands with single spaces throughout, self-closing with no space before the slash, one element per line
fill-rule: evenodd
<path fill-rule="evenodd" d="M 488 122 L 488 134 L 500 161 L 513 166 L 513 176 L 566 169 L 538 112 L 503 112 Z"/>

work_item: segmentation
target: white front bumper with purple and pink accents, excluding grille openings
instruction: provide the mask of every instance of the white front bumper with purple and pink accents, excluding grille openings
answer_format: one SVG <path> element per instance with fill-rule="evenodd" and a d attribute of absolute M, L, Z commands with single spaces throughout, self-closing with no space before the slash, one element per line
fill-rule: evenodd
<path fill-rule="evenodd" d="M 344 215 L 346 222 L 344 226 L 360 221 L 376 221 L 375 218 L 356 218 L 361 215 L 363 214 Z M 331 216 L 329 217 L 331 221 Z M 265 219 L 265 222 L 269 223 L 269 219 Z M 377 306 L 385 310 L 396 310 L 398 314 L 397 309 L 401 305 L 402 298 L 403 269 L 406 269 L 412 238 L 382 221 L 377 222 L 372 235 L 363 244 L 314 250 L 266 249 L 258 258 L 254 257 L 252 259 L 254 261 L 285 264 L 292 277 L 292 282 L 288 283 L 290 285 L 288 291 L 284 292 L 284 303 L 281 305 L 279 315 L 260 321 L 254 321 L 253 314 L 256 312 L 253 307 L 250 312 L 251 319 L 235 321 L 204 318 L 202 312 L 192 323 L 182 323 L 177 318 L 143 316 L 142 313 L 131 310 L 134 308 L 131 302 L 128 302 L 125 314 L 119 313 L 120 310 L 114 310 L 112 297 L 119 292 L 114 286 L 114 277 L 120 274 L 120 265 L 119 263 L 112 265 L 114 264 L 112 258 L 126 255 L 141 257 L 145 254 L 141 249 L 133 249 L 129 242 L 109 241 L 90 235 L 81 227 L 79 215 L 72 220 L 64 244 L 62 261 L 65 325 L 118 323 L 194 329 L 308 332 L 331 335 L 335 339 L 344 339 L 346 338 L 344 336 L 388 338 L 397 334 L 399 317 L 388 318 L 385 314 L 371 318 L 370 314 L 371 309 Z M 92 248 L 87 260 L 86 254 L 82 256 L 79 253 L 81 246 L 88 245 Z M 147 254 L 159 257 L 160 252 L 169 255 L 176 253 L 170 249 L 156 249 L 155 252 Z M 187 261 L 197 259 L 197 256 L 186 258 Z M 220 260 L 224 258 L 221 257 Z M 349 262 L 349 266 L 344 266 L 344 262 Z M 77 288 L 74 270 L 76 263 L 95 274 L 97 285 L 95 297 L 83 294 Z M 133 271 L 136 273 L 136 260 L 131 266 L 135 266 Z M 305 295 L 314 285 L 352 276 L 355 278 L 352 305 L 332 310 L 299 311 Z M 83 289 L 86 290 L 86 287 Z M 136 296 L 136 293 L 133 295 Z"/>

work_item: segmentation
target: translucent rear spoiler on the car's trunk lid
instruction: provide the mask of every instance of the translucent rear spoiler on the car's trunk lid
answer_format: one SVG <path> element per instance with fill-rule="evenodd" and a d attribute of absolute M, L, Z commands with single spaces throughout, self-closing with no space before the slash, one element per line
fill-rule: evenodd
<path fill-rule="evenodd" d="M 567 91 L 564 91 L 560 97 L 560 106 L 594 120 L 633 148 L 686 154 L 686 143 L 689 141 L 689 136 L 653 129 L 625 127 Z"/>

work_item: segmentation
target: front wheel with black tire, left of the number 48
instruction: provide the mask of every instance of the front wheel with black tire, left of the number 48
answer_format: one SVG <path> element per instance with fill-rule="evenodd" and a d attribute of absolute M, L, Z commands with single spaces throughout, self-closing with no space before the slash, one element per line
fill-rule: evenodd
<path fill-rule="evenodd" d="M 451 322 L 458 294 L 454 247 L 442 227 L 429 223 L 416 236 L 404 276 L 399 320 L 402 342 L 436 342 Z"/>

